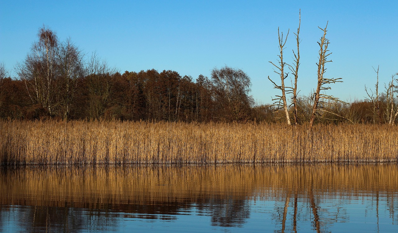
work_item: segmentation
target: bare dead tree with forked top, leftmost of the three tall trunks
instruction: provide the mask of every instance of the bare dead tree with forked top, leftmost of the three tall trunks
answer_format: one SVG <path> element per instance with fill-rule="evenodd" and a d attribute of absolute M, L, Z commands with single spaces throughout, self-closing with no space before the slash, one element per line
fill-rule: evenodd
<path fill-rule="evenodd" d="M 269 63 L 271 63 L 272 65 L 274 65 L 277 70 L 274 70 L 275 73 L 280 75 L 281 78 L 281 85 L 276 84 L 274 81 L 271 80 L 271 78 L 268 79 L 272 82 L 274 88 L 281 90 L 282 94 L 281 95 L 275 95 L 277 98 L 272 99 L 272 101 L 275 101 L 272 105 L 270 106 L 277 106 L 277 109 L 275 110 L 275 112 L 279 112 L 281 111 L 281 109 L 283 109 L 283 111 L 285 111 L 286 114 L 286 120 L 287 120 L 287 124 L 291 125 L 290 122 L 290 116 L 289 116 L 289 109 L 287 108 L 287 101 L 286 101 L 286 89 L 291 89 L 291 87 L 286 87 L 285 86 L 285 78 L 287 78 L 287 74 L 285 74 L 285 65 L 287 65 L 284 61 L 283 61 L 283 49 L 285 47 L 286 41 L 287 41 L 287 36 L 289 35 L 289 30 L 287 31 L 287 35 L 285 37 L 285 40 L 283 39 L 283 32 L 279 32 L 279 27 L 278 27 L 278 42 L 279 42 L 279 60 L 278 60 L 278 65 L 275 65 L 272 61 L 269 61 Z"/>

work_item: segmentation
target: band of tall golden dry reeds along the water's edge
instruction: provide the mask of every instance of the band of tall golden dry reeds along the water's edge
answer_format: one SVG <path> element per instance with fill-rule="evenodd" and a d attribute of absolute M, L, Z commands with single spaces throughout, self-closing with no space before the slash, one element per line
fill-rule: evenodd
<path fill-rule="evenodd" d="M 0 121 L 0 162 L 218 164 L 398 161 L 398 126 Z"/>

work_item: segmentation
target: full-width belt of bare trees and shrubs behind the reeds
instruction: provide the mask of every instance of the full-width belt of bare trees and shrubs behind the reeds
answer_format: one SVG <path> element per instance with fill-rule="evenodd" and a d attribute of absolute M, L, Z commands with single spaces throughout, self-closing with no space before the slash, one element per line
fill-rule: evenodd
<path fill-rule="evenodd" d="M 286 122 L 290 115 L 297 119 L 294 124 L 305 124 L 313 115 L 314 122 L 323 123 L 394 123 L 398 115 L 394 76 L 384 91 L 378 89 L 377 76 L 375 93 L 367 92 L 363 101 L 316 101 L 315 112 L 316 95 L 293 93 L 294 104 L 288 107 L 284 90 L 278 104 L 256 106 L 250 78 L 240 69 L 214 68 L 210 78 L 154 69 L 122 74 L 96 53 L 88 57 L 70 39 L 60 41 L 47 27 L 37 37 L 16 64 L 15 78 L 0 64 L 0 118 Z M 280 74 L 283 81 L 286 77 Z"/>

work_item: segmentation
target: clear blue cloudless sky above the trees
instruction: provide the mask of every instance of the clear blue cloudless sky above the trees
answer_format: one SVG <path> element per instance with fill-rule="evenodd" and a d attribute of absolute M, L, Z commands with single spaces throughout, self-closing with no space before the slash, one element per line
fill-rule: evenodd
<path fill-rule="evenodd" d="M 98 55 L 121 73 L 146 69 L 177 71 L 181 76 L 210 77 L 211 69 L 228 65 L 252 79 L 252 95 L 270 103 L 279 94 L 274 79 L 278 55 L 277 28 L 291 29 L 285 50 L 292 62 L 293 32 L 301 8 L 301 66 L 298 88 L 316 86 L 316 62 L 329 21 L 332 63 L 327 77 L 341 77 L 329 94 L 343 100 L 363 99 L 373 87 L 398 72 L 398 1 L 10 1 L 0 3 L 0 61 L 10 70 L 25 58 L 43 24 L 59 39 L 70 37 L 86 53 Z"/>

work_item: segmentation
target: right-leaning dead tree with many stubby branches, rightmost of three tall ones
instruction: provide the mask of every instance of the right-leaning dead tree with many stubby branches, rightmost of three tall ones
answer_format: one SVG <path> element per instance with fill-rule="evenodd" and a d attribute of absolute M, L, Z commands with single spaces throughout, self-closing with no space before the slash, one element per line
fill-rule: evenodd
<path fill-rule="evenodd" d="M 330 42 L 326 38 L 327 27 L 328 27 L 328 23 L 326 23 L 326 27 L 324 29 L 318 27 L 319 29 L 322 30 L 322 32 L 324 34 L 320 38 L 320 41 L 318 42 L 318 45 L 320 47 L 319 48 L 319 61 L 316 64 L 316 65 L 318 65 L 318 85 L 316 86 L 316 90 L 313 95 L 314 104 L 312 105 L 310 122 L 308 124 L 309 129 L 312 128 L 315 117 L 317 115 L 320 115 L 319 111 L 330 113 L 330 114 L 336 115 L 338 117 L 341 117 L 340 115 L 338 115 L 336 113 L 333 113 L 331 111 L 324 109 L 325 105 L 332 106 L 332 103 L 330 103 L 330 101 L 345 103 L 345 102 L 341 101 L 339 98 L 334 97 L 333 95 L 321 94 L 321 91 L 326 91 L 326 90 L 331 89 L 330 86 L 328 86 L 328 85 L 330 85 L 332 83 L 336 83 L 336 82 L 343 82 L 343 81 L 341 81 L 341 78 L 325 78 L 324 77 L 324 74 L 326 72 L 326 68 L 325 68 L 326 63 L 332 62 L 332 60 L 328 60 L 328 56 L 332 53 L 330 53 L 330 51 L 328 50 L 328 46 L 329 46 Z M 345 103 L 345 104 L 347 104 L 347 103 Z"/>

